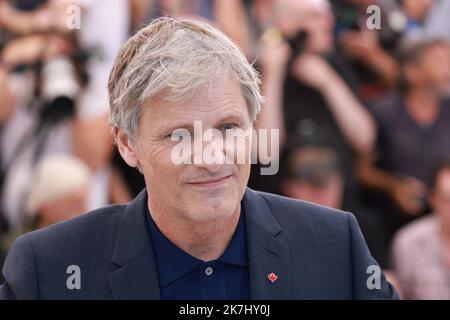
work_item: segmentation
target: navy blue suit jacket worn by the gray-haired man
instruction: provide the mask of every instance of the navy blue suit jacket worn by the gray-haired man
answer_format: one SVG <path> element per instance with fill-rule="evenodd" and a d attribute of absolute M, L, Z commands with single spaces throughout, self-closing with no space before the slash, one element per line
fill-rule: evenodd
<path fill-rule="evenodd" d="M 252 299 L 397 297 L 382 273 L 379 286 L 374 280 L 377 263 L 352 214 L 248 188 L 242 204 Z M 19 237 L 3 268 L 0 298 L 159 299 L 146 205 L 144 190 L 128 205 Z M 67 286 L 71 265 L 80 268 L 79 289 Z"/>

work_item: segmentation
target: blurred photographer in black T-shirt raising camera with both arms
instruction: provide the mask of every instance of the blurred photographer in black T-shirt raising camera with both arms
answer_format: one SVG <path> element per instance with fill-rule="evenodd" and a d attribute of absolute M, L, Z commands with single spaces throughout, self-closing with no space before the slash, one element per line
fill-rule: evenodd
<path fill-rule="evenodd" d="M 266 103 L 258 126 L 280 129 L 281 145 L 300 138 L 334 149 L 347 177 L 346 196 L 354 197 L 353 155 L 371 150 L 375 127 L 350 89 L 352 70 L 334 48 L 329 3 L 278 1 L 275 26 L 261 41 Z"/>

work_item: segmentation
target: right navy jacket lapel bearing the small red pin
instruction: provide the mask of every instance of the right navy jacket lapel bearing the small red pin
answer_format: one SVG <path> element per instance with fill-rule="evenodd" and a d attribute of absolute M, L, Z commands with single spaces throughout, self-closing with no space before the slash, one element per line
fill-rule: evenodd
<path fill-rule="evenodd" d="M 289 299 L 289 246 L 277 239 L 282 229 L 266 200 L 257 192 L 247 188 L 243 205 L 247 227 L 251 298 Z M 275 281 L 268 279 L 271 273 L 277 277 Z"/>

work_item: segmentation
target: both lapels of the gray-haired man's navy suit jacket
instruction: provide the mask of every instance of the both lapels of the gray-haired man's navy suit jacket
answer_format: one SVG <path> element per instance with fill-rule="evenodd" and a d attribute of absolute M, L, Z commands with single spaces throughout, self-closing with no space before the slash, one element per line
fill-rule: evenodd
<path fill-rule="evenodd" d="M 114 245 L 112 261 L 119 268 L 108 276 L 114 299 L 160 299 L 160 288 L 144 210 L 147 191 L 143 190 L 124 210 Z M 277 239 L 282 229 L 268 203 L 247 188 L 245 212 L 250 293 L 252 299 L 289 299 L 289 246 Z M 276 281 L 268 279 L 275 274 Z"/>

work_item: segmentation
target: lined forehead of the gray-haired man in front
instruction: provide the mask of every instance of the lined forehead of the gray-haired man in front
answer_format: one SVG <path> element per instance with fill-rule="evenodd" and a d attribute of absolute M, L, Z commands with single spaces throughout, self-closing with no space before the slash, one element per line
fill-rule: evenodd
<path fill-rule="evenodd" d="M 249 109 L 237 81 L 216 79 L 195 89 L 186 99 L 153 99 L 143 112 L 141 122 L 163 128 L 184 121 L 214 121 L 225 115 L 250 119 Z"/>

